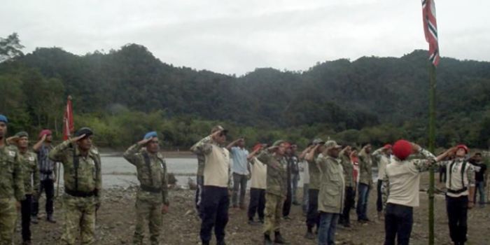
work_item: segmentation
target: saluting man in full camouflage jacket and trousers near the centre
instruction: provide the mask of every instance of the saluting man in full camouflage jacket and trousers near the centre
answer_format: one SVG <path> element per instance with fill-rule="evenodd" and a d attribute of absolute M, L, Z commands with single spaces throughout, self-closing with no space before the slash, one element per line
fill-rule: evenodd
<path fill-rule="evenodd" d="M 267 188 L 265 189 L 264 244 L 272 245 L 270 236 L 274 232 L 274 244 L 287 244 L 280 232 L 283 203 L 286 200 L 288 185 L 288 162 L 284 157 L 288 148 L 286 141 L 276 141 L 260 151 L 257 159 L 267 165 Z M 259 149 L 250 155 L 253 157 Z"/>

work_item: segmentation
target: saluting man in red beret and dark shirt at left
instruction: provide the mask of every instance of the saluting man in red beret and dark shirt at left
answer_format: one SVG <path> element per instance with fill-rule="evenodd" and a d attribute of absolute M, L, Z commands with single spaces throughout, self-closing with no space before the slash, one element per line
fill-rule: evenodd
<path fill-rule="evenodd" d="M 53 200 L 55 197 L 55 181 L 56 181 L 56 162 L 53 162 L 48 158 L 50 151 L 53 146 L 52 133 L 50 130 L 42 130 L 38 136 L 39 141 L 32 146 L 34 152 L 37 153 L 38 158 L 38 169 L 39 177 L 41 179 L 41 184 L 38 193 L 35 193 L 32 197 L 33 207 L 32 207 L 32 223 L 38 223 L 37 215 L 39 212 L 39 197 L 45 192 L 46 203 L 46 221 L 50 223 L 56 223 L 55 219 L 52 217 Z"/>

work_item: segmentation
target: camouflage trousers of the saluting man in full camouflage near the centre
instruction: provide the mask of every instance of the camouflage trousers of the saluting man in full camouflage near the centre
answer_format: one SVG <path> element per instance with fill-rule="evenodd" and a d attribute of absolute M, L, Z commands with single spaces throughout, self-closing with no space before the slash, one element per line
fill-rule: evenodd
<path fill-rule="evenodd" d="M 265 193 L 265 235 L 274 235 L 274 232 L 279 231 L 283 204 L 284 197 Z"/>

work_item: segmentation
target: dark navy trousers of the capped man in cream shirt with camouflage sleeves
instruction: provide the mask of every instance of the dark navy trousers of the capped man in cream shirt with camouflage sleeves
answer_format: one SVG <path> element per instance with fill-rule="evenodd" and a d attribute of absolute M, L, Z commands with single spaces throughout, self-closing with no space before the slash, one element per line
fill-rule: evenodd
<path fill-rule="evenodd" d="M 225 239 L 225 227 L 228 223 L 228 207 L 230 197 L 228 188 L 217 186 L 204 186 L 201 202 L 201 240 L 209 242 L 214 228 L 216 240 Z"/>

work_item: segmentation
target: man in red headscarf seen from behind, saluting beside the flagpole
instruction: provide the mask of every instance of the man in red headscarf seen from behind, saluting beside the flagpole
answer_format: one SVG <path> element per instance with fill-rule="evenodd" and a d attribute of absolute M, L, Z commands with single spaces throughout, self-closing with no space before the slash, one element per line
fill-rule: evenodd
<path fill-rule="evenodd" d="M 409 155 L 419 153 L 423 158 L 409 160 Z M 412 233 L 413 208 L 419 207 L 419 183 L 425 172 L 436 161 L 445 158 L 444 153 L 435 158 L 432 153 L 417 144 L 405 140 L 393 145 L 393 158 L 386 166 L 383 187 L 385 205 L 385 245 L 408 245 Z M 395 243 L 395 238 L 397 242 Z"/>

